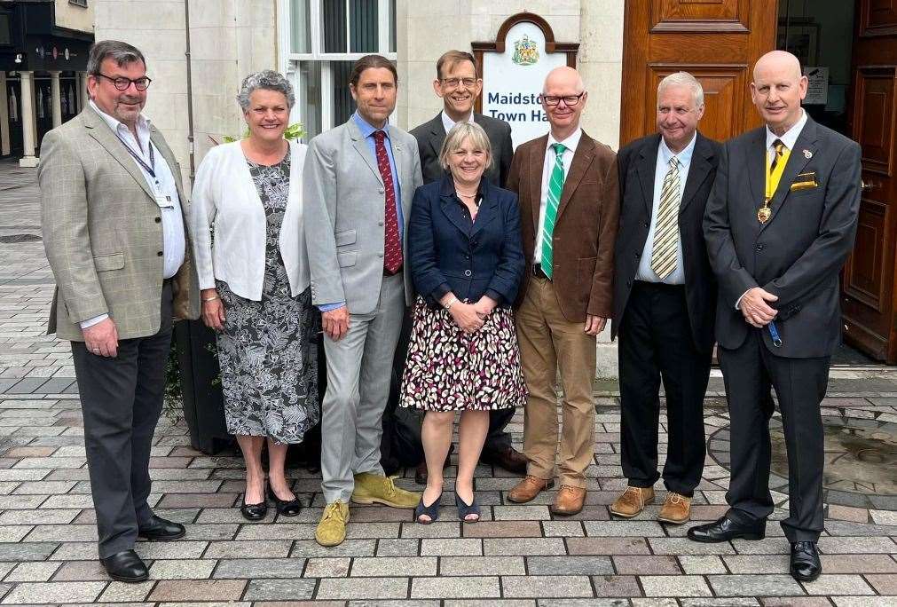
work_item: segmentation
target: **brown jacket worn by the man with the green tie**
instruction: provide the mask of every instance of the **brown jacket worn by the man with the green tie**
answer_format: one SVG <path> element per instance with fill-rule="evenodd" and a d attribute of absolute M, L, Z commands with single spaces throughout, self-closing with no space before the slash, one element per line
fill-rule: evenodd
<path fill-rule="evenodd" d="M 522 143 L 510 165 L 508 189 L 517 192 L 520 233 L 533 263 L 548 135 Z M 583 133 L 564 180 L 553 230 L 553 283 L 561 313 L 571 323 L 586 315 L 609 318 L 614 299 L 614 240 L 620 215 L 616 154 Z M 522 302 L 531 272 L 518 295 Z"/>

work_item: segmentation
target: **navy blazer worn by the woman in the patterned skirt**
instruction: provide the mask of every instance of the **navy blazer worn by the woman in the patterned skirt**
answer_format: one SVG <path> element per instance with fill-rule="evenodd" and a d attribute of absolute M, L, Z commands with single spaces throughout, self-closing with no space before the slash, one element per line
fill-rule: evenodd
<path fill-rule="evenodd" d="M 473 225 L 451 177 L 420 186 L 414 194 L 409 263 L 414 288 L 431 306 L 448 291 L 470 302 L 488 295 L 500 306 L 517 298 L 526 266 L 517 195 L 485 179 L 480 194 Z"/>

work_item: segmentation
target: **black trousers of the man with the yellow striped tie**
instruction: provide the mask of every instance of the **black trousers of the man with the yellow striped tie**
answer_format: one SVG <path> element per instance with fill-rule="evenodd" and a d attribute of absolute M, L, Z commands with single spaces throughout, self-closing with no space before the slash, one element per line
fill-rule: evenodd
<path fill-rule="evenodd" d="M 632 487 L 651 487 L 658 473 L 660 382 L 668 434 L 667 490 L 692 497 L 704 470 L 704 395 L 712 352 L 699 351 L 682 285 L 637 281 L 620 329 L 620 445 Z"/>

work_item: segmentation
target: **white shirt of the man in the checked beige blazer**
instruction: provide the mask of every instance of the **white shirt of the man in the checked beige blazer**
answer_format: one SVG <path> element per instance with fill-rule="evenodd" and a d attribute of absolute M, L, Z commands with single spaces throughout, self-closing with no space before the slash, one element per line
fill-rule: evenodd
<path fill-rule="evenodd" d="M 93 100 L 90 100 L 91 108 L 100 115 L 103 121 L 109 125 L 112 132 L 118 135 L 118 139 L 126 145 L 126 147 L 137 154 L 147 167 L 152 167 L 150 161 L 150 122 L 143 115 L 137 117 L 137 137 L 131 133 L 126 125 L 119 122 L 116 118 L 109 116 L 106 112 L 97 107 Z M 137 162 L 133 157 L 137 168 L 143 173 L 146 184 L 150 186 L 150 190 L 156 195 L 170 200 L 170 206 L 160 207 L 162 218 L 162 276 L 171 278 L 184 263 L 184 253 L 187 247 L 187 239 L 184 235 L 184 217 L 180 211 L 180 198 L 178 196 L 178 187 L 175 185 L 175 177 L 171 173 L 168 162 L 159 152 L 159 148 L 152 145 L 153 160 L 155 167 L 155 177 L 147 170 L 142 163 Z M 130 156 L 130 154 L 128 154 Z M 81 328 L 86 329 L 91 325 L 96 325 L 102 320 L 109 317 L 108 314 L 102 314 L 99 317 L 88 318 L 81 323 Z"/>

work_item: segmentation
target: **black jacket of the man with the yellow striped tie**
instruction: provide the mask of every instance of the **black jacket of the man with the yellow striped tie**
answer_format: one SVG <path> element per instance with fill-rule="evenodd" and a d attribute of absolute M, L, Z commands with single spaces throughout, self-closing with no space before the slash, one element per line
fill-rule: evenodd
<path fill-rule="evenodd" d="M 651 134 L 620 150 L 620 231 L 614 253 L 614 322 L 616 337 L 623 322 L 632 282 L 639 272 L 645 250 L 651 212 L 654 208 L 654 178 L 657 173 L 660 134 Z M 710 269 L 702 222 L 722 146 L 701 133 L 697 135 L 692 164 L 682 202 L 679 204 L 679 238 L 685 271 L 685 303 L 692 338 L 699 350 L 713 348 L 713 315 L 716 314 L 717 282 Z"/>

